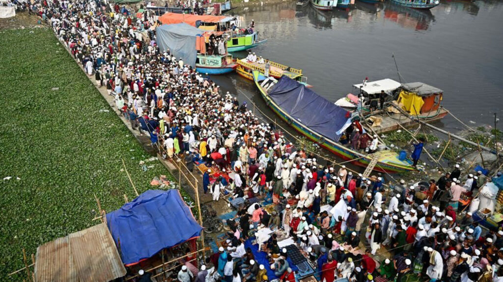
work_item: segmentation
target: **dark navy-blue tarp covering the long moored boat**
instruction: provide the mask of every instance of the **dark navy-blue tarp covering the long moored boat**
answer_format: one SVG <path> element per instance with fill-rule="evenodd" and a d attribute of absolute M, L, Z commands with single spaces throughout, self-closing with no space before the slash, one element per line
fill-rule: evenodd
<path fill-rule="evenodd" d="M 282 76 L 268 92 L 269 96 L 294 119 L 335 142 L 348 120 L 348 111 L 306 88 L 303 84 Z"/>

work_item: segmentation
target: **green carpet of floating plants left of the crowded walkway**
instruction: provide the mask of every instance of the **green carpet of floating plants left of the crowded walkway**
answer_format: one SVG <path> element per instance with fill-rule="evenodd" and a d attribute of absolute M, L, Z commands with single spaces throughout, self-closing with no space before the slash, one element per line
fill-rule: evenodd
<path fill-rule="evenodd" d="M 0 275 L 24 266 L 22 248 L 90 227 L 93 193 L 110 212 L 132 200 L 124 159 L 138 192 L 169 174 L 149 158 L 49 29 L 0 32 Z M 58 90 L 51 90 L 59 87 Z M 16 180 L 19 177 L 20 180 Z M 186 195 L 186 194 L 185 194 Z M 21 273 L 24 273 L 21 272 Z"/>

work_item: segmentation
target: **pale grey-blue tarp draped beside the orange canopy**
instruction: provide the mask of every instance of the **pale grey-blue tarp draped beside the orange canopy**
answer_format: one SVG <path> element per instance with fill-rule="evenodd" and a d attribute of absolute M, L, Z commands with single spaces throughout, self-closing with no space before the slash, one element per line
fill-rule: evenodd
<path fill-rule="evenodd" d="M 204 30 L 189 24 L 162 25 L 155 30 L 157 45 L 160 51 L 170 49 L 172 55 L 182 58 L 185 64 L 192 67 L 196 65 L 196 37 L 201 36 Z"/>

